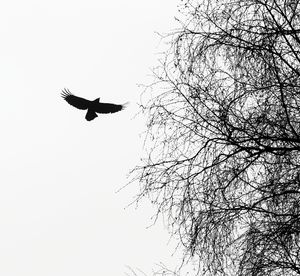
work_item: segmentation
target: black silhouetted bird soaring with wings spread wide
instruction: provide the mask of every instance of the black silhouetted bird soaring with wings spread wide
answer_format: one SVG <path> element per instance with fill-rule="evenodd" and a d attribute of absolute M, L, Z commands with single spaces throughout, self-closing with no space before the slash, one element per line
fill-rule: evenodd
<path fill-rule="evenodd" d="M 123 110 L 128 103 L 125 104 L 112 104 L 112 103 L 102 103 L 100 98 L 97 98 L 94 101 L 89 101 L 84 98 L 75 96 L 70 92 L 69 89 L 64 88 L 62 90 L 61 96 L 66 100 L 70 105 L 85 110 L 87 113 L 85 119 L 87 121 L 92 121 L 98 117 L 97 113 L 115 113 Z"/>

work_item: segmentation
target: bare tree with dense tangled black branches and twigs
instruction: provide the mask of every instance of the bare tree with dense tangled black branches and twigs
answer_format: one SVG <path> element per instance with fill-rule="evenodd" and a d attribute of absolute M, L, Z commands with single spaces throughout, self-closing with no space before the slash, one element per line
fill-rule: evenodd
<path fill-rule="evenodd" d="M 185 1 L 145 91 L 138 200 L 201 275 L 300 275 L 298 2 Z"/>

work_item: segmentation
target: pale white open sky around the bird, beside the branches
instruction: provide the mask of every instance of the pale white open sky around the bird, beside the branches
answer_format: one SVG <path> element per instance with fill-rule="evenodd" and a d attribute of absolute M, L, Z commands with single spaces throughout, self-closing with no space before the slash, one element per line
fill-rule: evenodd
<path fill-rule="evenodd" d="M 0 3 L 0 275 L 150 275 L 174 247 L 128 182 L 145 130 L 142 88 L 175 28 L 175 0 Z M 63 88 L 130 102 L 87 122 Z"/>

